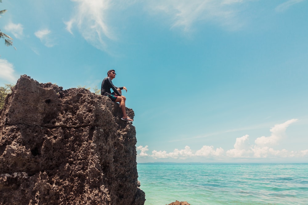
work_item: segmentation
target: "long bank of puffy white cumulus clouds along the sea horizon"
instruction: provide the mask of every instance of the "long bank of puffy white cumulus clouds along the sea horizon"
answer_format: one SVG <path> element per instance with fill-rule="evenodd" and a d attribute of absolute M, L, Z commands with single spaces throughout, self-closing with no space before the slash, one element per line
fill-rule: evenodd
<path fill-rule="evenodd" d="M 275 150 L 269 147 L 270 145 L 277 144 L 279 140 L 285 135 L 286 128 L 298 121 L 297 119 L 288 120 L 282 124 L 276 124 L 270 129 L 271 136 L 259 137 L 255 140 L 255 144 L 249 143 L 249 135 L 236 138 L 234 149 L 224 151 L 223 148 L 214 148 L 213 146 L 204 145 L 201 149 L 193 153 L 189 146 L 184 149 L 174 149 L 173 152 L 156 151 L 153 150 L 152 154 L 148 154 L 148 145 L 138 146 L 137 151 L 140 151 L 138 157 L 152 157 L 154 159 L 188 159 L 193 157 L 204 158 L 268 158 L 268 157 L 303 157 L 308 155 L 308 149 L 302 151 L 288 151 L 286 149 Z"/>

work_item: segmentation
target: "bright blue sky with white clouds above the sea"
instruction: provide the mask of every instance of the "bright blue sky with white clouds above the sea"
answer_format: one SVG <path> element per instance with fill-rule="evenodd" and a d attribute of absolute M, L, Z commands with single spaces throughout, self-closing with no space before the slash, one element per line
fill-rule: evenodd
<path fill-rule="evenodd" d="M 128 89 L 137 162 L 308 163 L 307 0 L 2 0 L 0 86 Z M 0 42 L 1 43 L 1 42 Z"/>

